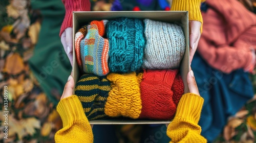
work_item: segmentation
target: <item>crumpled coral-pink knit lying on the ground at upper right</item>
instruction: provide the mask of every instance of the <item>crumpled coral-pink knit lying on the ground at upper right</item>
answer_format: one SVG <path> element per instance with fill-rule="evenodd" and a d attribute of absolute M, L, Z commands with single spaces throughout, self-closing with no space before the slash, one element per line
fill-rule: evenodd
<path fill-rule="evenodd" d="M 256 50 L 256 15 L 236 0 L 206 1 L 204 32 L 198 52 L 207 63 L 224 73 L 250 66 Z"/>

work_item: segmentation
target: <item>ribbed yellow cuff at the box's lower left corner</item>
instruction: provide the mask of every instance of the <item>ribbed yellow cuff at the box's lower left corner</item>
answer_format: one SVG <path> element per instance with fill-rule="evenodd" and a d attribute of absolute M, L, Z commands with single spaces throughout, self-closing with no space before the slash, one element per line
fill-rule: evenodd
<path fill-rule="evenodd" d="M 87 117 L 84 115 L 81 103 L 75 95 L 60 100 L 57 105 L 57 112 L 61 117 L 63 127 L 81 119 L 87 120 Z"/>

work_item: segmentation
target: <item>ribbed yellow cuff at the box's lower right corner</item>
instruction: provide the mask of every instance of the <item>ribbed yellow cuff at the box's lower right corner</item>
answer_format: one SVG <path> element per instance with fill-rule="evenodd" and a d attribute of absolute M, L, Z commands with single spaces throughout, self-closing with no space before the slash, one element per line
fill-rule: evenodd
<path fill-rule="evenodd" d="M 186 93 L 180 99 L 175 116 L 198 124 L 203 103 L 204 99 L 197 94 Z"/>

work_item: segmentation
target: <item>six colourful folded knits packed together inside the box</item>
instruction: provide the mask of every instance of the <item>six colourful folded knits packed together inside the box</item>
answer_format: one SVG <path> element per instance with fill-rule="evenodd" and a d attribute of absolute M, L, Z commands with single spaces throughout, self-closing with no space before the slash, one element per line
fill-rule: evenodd
<path fill-rule="evenodd" d="M 184 92 L 185 47 L 182 28 L 172 23 L 121 17 L 83 26 L 75 34 L 84 74 L 75 94 L 88 119 L 172 120 Z"/>

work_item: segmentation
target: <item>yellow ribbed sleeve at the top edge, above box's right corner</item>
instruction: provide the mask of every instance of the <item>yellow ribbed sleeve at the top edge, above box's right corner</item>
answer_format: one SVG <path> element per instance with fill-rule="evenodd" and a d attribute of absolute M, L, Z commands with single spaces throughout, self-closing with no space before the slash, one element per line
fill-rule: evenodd
<path fill-rule="evenodd" d="M 171 11 L 188 11 L 189 20 L 197 20 L 202 23 L 201 33 L 203 31 L 203 18 L 200 11 L 201 2 L 205 0 L 173 0 Z"/>

